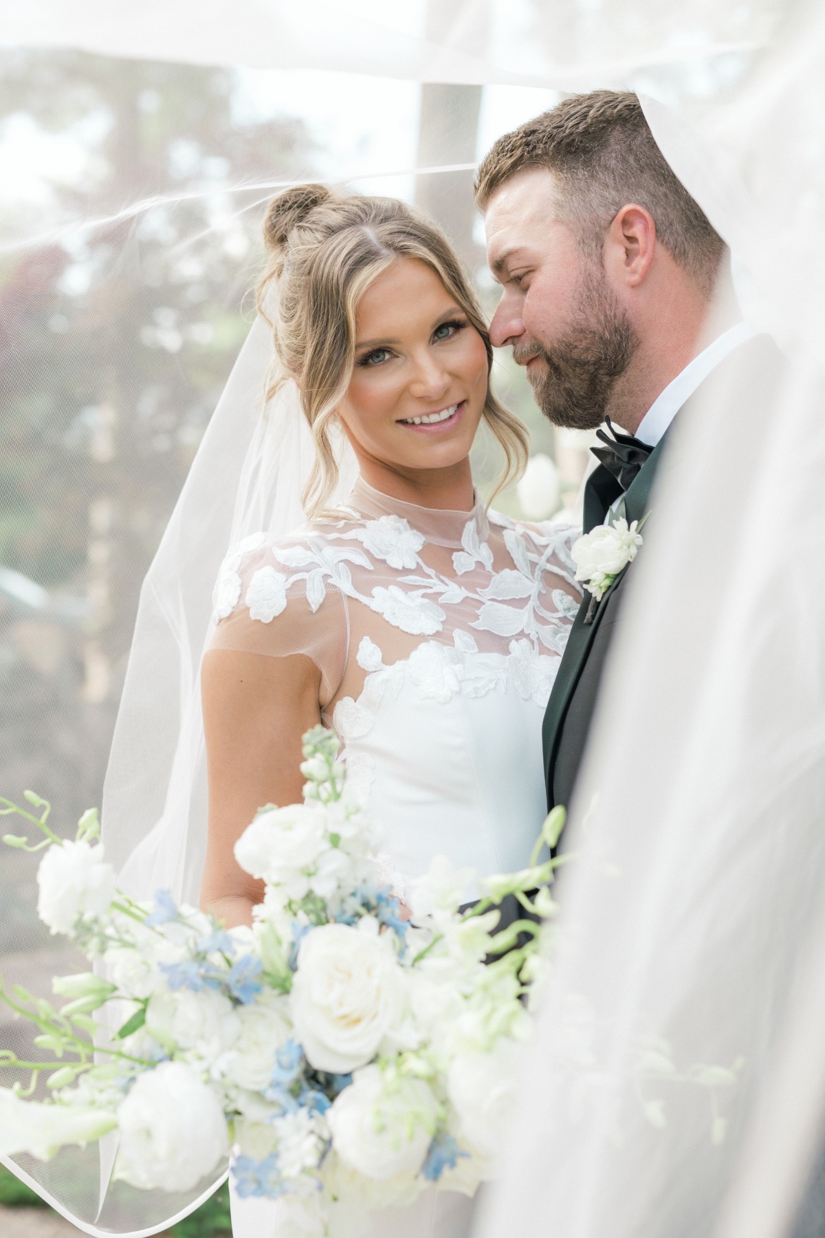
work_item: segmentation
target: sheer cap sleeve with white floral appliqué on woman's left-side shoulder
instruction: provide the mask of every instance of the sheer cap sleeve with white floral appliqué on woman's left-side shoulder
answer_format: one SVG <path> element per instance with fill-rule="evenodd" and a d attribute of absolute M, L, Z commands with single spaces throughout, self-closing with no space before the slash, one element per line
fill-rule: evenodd
<path fill-rule="evenodd" d="M 213 603 L 210 649 L 309 657 L 320 671 L 325 708 L 346 666 L 349 612 L 319 539 L 254 534 L 237 542 L 221 565 Z"/>

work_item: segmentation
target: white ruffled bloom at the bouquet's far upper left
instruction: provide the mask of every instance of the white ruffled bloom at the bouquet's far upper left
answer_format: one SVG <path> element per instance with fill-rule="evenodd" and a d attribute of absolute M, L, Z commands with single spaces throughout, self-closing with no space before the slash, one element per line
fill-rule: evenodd
<path fill-rule="evenodd" d="M 37 870 L 37 915 L 51 931 L 68 933 L 80 916 L 98 916 L 115 896 L 115 870 L 103 846 L 53 843 Z"/>

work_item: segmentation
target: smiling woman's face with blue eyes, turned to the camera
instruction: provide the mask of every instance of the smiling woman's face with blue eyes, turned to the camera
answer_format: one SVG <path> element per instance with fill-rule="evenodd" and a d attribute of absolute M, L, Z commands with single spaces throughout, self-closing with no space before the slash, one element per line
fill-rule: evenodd
<path fill-rule="evenodd" d="M 397 258 L 361 297 L 338 416 L 359 457 L 408 469 L 465 459 L 487 396 L 484 339 L 432 267 Z"/>

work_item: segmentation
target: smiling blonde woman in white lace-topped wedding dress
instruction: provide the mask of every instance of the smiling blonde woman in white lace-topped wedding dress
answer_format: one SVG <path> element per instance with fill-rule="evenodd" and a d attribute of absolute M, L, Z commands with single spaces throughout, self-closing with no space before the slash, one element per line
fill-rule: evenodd
<path fill-rule="evenodd" d="M 527 438 L 490 389 L 486 327 L 444 235 L 401 202 L 322 186 L 277 197 L 265 235 L 276 415 L 294 383 L 314 463 L 308 522 L 246 537 L 215 588 L 202 905 L 229 925 L 262 898 L 234 844 L 259 806 L 301 800 L 301 737 L 318 722 L 386 829 L 376 864 L 400 898 L 439 852 L 480 875 L 523 867 L 545 811 L 542 714 L 580 600 L 573 530 L 513 522 L 474 490 L 481 421 L 501 484 Z M 359 475 L 330 510 L 341 433 Z M 235 1197 L 235 1238 L 277 1233 L 287 1212 Z M 470 1216 L 430 1188 L 356 1232 L 459 1238 Z"/>

